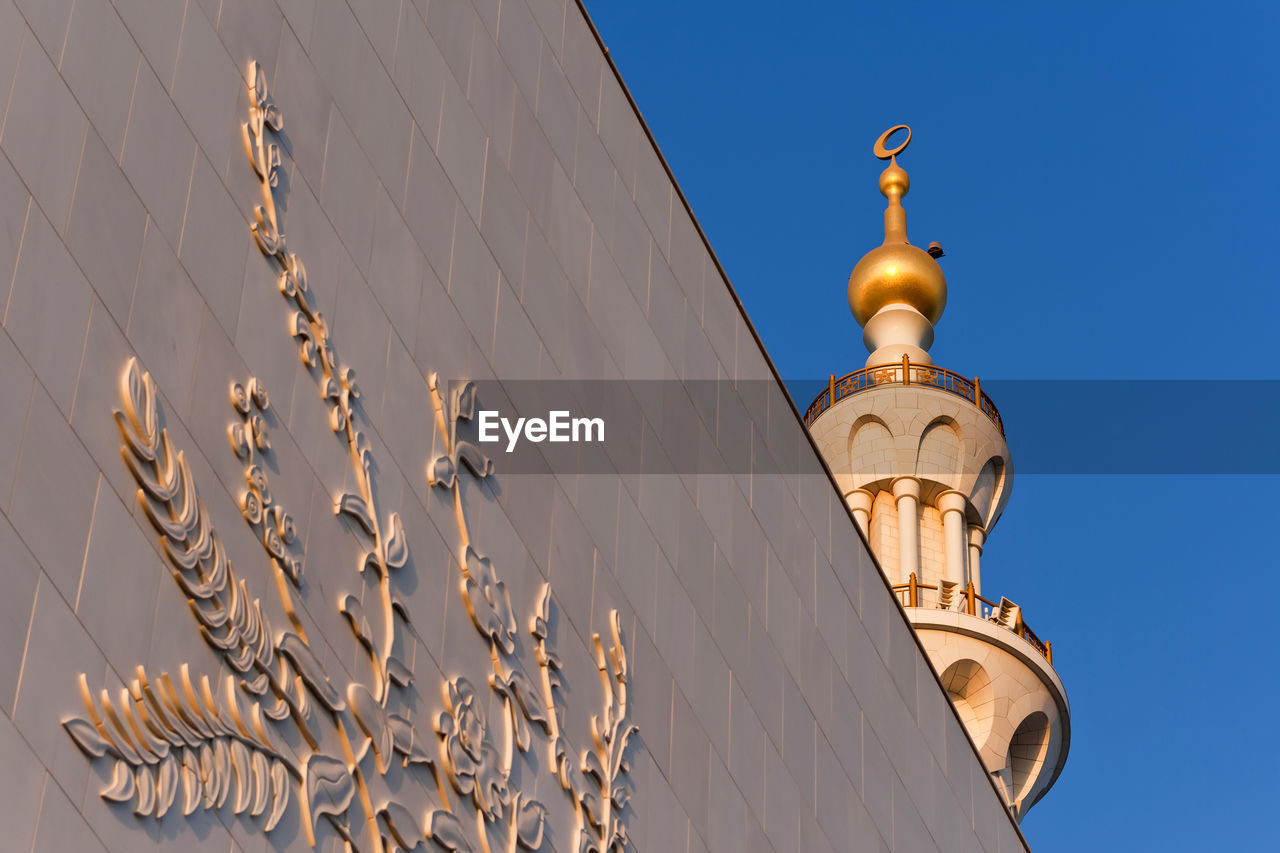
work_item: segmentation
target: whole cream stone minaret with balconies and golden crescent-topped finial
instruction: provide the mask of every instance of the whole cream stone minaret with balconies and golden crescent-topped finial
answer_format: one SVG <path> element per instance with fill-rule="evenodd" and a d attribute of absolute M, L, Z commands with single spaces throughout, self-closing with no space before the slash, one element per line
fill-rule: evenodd
<path fill-rule="evenodd" d="M 905 131 L 895 147 L 890 138 Z M 983 596 L 980 557 L 1014 480 L 995 402 L 977 378 L 929 357 L 947 282 L 931 243 L 906 240 L 905 124 L 876 141 L 884 242 L 849 277 L 870 351 L 832 375 L 805 424 L 888 576 L 987 770 L 1018 818 L 1066 762 L 1070 710 L 1053 651 L 1012 601 Z"/>

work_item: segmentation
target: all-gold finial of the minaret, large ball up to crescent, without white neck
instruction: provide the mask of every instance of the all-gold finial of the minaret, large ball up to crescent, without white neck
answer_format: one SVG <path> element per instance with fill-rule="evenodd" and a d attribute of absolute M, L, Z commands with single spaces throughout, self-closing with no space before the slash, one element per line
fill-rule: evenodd
<path fill-rule="evenodd" d="M 884 143 L 897 131 L 906 131 L 906 140 L 886 150 Z M 911 128 L 899 124 L 876 140 L 876 156 L 888 160 L 881 173 L 879 188 L 888 199 L 884 209 L 884 242 L 863 255 L 849 275 L 849 307 L 859 325 L 886 305 L 905 304 L 923 314 L 929 323 L 942 318 L 947 305 L 947 278 L 929 255 L 906 241 L 906 211 L 902 196 L 911 186 L 906 170 L 897 165 L 897 155 L 911 142 Z"/>

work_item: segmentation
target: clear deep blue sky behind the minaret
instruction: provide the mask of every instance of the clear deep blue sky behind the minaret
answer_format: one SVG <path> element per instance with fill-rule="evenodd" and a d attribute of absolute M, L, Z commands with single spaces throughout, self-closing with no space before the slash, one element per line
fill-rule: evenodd
<path fill-rule="evenodd" d="M 899 123 L 913 242 L 947 252 L 938 364 L 1280 379 L 1276 4 L 588 8 L 801 407 L 865 359 L 845 286 L 882 237 L 870 147 Z M 1231 418 L 1171 411 L 1151 429 L 1189 441 Z M 1277 487 L 1176 460 L 1018 478 L 984 587 L 1053 642 L 1073 711 L 1024 821 L 1037 853 L 1277 849 Z"/>

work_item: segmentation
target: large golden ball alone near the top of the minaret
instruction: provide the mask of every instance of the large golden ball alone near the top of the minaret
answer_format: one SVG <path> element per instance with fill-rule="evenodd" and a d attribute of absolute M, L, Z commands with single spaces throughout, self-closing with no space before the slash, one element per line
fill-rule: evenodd
<path fill-rule="evenodd" d="M 942 319 L 947 277 L 923 248 L 887 243 L 863 255 L 854 266 L 849 275 L 849 307 L 858 325 L 867 325 L 876 311 L 892 302 L 906 302 L 929 323 Z"/>

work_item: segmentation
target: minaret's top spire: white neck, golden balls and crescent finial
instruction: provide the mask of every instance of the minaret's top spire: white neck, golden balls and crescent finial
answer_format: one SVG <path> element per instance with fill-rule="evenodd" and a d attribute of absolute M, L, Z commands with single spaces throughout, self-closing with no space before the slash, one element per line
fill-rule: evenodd
<path fill-rule="evenodd" d="M 899 131 L 906 131 L 906 138 L 886 147 Z M 932 364 L 928 348 L 933 343 L 933 324 L 942 318 L 947 304 L 947 279 L 934 260 L 942 255 L 941 250 L 933 243 L 925 252 L 906 240 L 902 196 L 911 181 L 906 169 L 897 165 L 897 155 L 910 143 L 911 128 L 905 124 L 891 127 L 876 140 L 876 156 L 888 160 L 879 177 L 881 193 L 888 200 L 884 242 L 863 255 L 849 277 L 849 307 L 863 327 L 863 343 L 872 353 L 868 366 L 897 362 L 904 355 L 915 362 Z"/>

